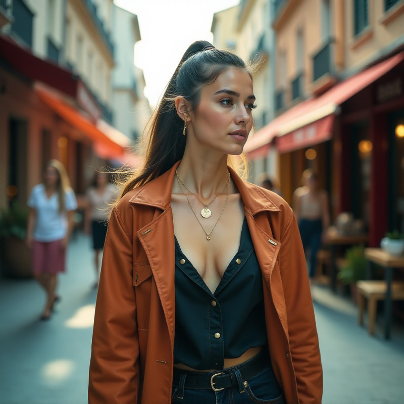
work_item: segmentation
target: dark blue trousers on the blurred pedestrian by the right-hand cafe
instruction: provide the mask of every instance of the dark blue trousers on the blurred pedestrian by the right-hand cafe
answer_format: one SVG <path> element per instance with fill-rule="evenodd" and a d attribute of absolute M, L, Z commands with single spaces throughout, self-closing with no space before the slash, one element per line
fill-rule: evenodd
<path fill-rule="evenodd" d="M 301 237 L 301 243 L 303 248 L 310 248 L 310 268 L 309 277 L 313 278 L 316 272 L 317 265 L 317 251 L 321 246 L 321 233 L 323 231 L 323 222 L 321 219 L 308 220 L 300 219 L 299 231 Z"/>

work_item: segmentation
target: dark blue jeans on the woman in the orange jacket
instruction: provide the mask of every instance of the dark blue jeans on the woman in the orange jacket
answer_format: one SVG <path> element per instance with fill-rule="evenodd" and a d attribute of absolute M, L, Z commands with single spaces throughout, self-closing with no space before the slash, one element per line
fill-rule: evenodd
<path fill-rule="evenodd" d="M 248 380 L 241 379 L 237 367 L 223 371 L 234 372 L 237 378 L 235 386 L 221 391 L 184 387 L 186 379 L 186 372 L 184 372 L 178 383 L 179 386 L 173 385 L 171 402 L 174 404 L 286 404 L 270 364 Z"/>

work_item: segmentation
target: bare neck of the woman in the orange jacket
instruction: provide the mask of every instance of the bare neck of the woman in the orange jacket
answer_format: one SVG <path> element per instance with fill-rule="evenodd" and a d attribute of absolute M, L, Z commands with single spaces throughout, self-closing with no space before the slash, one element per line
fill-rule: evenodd
<path fill-rule="evenodd" d="M 229 180 L 227 155 L 206 159 L 184 153 L 177 172 L 190 191 L 208 199 L 220 192 Z"/>

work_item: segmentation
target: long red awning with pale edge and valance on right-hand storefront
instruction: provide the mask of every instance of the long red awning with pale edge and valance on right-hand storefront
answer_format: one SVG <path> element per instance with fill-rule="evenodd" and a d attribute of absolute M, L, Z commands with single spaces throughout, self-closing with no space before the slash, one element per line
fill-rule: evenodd
<path fill-rule="evenodd" d="M 251 156 L 252 151 L 263 148 L 274 139 L 277 145 L 281 145 L 281 153 L 295 150 L 301 147 L 310 146 L 330 138 L 331 118 L 338 106 L 347 99 L 363 90 L 375 80 L 382 77 L 404 60 L 404 52 L 401 52 L 379 64 L 365 69 L 344 81 L 336 84 L 319 97 L 312 97 L 296 105 L 284 114 L 275 118 L 270 124 L 260 129 L 254 136 L 248 139 L 245 151 Z M 313 129 L 313 122 L 323 120 Z M 304 128 L 303 132 L 298 129 Z M 312 129 L 311 129 L 312 128 Z M 320 133 L 321 130 L 327 133 Z M 312 133 L 316 133 L 315 136 Z M 283 136 L 285 140 L 281 140 Z M 304 137 L 305 141 L 301 140 Z M 302 142 L 302 143 L 300 143 Z M 254 156 L 254 155 L 252 155 Z"/>

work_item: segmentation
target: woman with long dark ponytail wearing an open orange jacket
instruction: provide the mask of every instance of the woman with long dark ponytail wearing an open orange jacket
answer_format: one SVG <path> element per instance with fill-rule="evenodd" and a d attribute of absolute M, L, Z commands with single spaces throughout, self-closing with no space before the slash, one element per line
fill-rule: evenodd
<path fill-rule="evenodd" d="M 229 156 L 252 128 L 248 68 L 194 42 L 113 209 L 89 402 L 320 403 L 322 370 L 291 209 Z"/>

